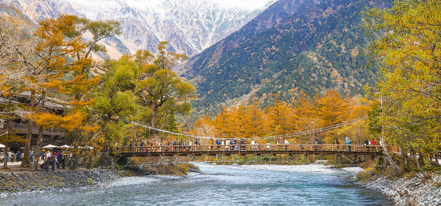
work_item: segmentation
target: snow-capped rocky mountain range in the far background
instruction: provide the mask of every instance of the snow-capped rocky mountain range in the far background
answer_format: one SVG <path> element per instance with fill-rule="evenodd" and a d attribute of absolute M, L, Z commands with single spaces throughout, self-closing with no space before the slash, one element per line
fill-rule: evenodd
<path fill-rule="evenodd" d="M 8 1 L 8 0 L 7 0 Z M 121 36 L 106 39 L 109 55 L 117 58 L 137 49 L 154 52 L 160 41 L 194 56 L 240 29 L 275 0 L 260 8 L 227 7 L 213 0 L 9 0 L 26 7 L 36 19 L 60 13 L 87 19 L 114 19 Z M 113 47 L 113 48 L 111 48 Z"/>

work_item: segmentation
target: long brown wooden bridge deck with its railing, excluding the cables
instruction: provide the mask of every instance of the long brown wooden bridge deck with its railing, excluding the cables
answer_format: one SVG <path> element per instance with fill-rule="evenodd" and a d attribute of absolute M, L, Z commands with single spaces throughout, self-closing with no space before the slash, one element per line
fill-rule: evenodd
<path fill-rule="evenodd" d="M 132 146 L 111 148 L 111 154 L 122 157 L 157 157 L 174 155 L 383 155 L 378 145 L 337 145 L 337 144 L 247 144 L 234 146 L 193 145 L 193 146 Z"/>

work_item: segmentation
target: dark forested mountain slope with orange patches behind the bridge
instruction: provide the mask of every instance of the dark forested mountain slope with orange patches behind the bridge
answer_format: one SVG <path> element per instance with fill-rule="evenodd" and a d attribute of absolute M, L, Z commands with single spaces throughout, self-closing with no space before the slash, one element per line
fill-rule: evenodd
<path fill-rule="evenodd" d="M 367 70 L 360 12 L 390 1 L 280 0 L 227 38 L 194 56 L 180 76 L 197 88 L 199 111 L 218 111 L 257 95 L 278 93 L 292 101 L 300 90 L 313 96 L 335 89 L 362 94 L 376 82 Z"/>

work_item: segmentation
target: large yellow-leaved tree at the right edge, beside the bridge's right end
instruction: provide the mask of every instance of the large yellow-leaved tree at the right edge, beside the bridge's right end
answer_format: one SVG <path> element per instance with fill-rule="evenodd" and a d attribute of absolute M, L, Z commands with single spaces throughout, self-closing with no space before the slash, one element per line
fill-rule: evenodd
<path fill-rule="evenodd" d="M 420 158 L 441 147 L 441 2 L 395 1 L 364 13 L 372 37 L 367 52 L 379 65 L 376 98 L 383 98 L 386 140 Z"/>

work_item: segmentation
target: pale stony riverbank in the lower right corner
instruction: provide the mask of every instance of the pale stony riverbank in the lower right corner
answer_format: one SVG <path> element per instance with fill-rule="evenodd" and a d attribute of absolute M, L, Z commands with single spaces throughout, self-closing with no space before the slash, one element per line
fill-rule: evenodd
<path fill-rule="evenodd" d="M 389 196 L 396 205 L 441 205 L 441 174 L 418 173 L 412 177 L 355 181 L 356 185 Z"/>

